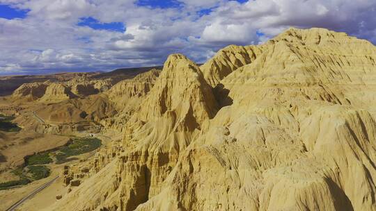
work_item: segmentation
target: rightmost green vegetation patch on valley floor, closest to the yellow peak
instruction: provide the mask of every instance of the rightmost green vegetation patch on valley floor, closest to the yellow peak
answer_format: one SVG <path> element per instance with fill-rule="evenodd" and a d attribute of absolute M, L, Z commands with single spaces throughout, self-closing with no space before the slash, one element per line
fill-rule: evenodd
<path fill-rule="evenodd" d="M 58 150 L 56 153 L 56 163 L 61 164 L 67 162 L 69 157 L 94 151 L 101 145 L 101 140 L 97 138 L 78 138 L 72 140 L 70 144 L 63 146 Z"/>

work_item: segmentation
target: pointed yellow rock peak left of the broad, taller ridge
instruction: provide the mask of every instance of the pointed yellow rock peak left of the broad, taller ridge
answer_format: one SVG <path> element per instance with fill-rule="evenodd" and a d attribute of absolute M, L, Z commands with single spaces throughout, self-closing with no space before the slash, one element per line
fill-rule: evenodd
<path fill-rule="evenodd" d="M 199 67 L 180 54 L 170 56 L 154 87 L 125 125 L 124 140 L 117 146 L 123 153 L 108 164 L 116 170 L 111 170 L 110 176 L 104 167 L 94 176 L 107 174 L 106 183 L 97 184 L 108 189 L 107 198 L 98 195 L 93 200 L 105 209 L 134 210 L 157 195 L 180 151 L 198 135 L 202 122 L 216 112 L 212 89 Z M 81 186 L 72 197 L 86 194 L 88 187 L 85 183 Z M 91 203 L 82 203 L 80 209 L 91 208 Z"/>

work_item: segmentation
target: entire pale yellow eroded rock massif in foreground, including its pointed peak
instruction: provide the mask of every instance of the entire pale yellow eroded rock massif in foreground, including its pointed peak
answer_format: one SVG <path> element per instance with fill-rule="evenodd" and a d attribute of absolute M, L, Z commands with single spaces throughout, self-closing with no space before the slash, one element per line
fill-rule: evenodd
<path fill-rule="evenodd" d="M 201 69 L 171 55 L 123 141 L 46 210 L 375 211 L 375 60 L 370 42 L 323 28 Z"/>

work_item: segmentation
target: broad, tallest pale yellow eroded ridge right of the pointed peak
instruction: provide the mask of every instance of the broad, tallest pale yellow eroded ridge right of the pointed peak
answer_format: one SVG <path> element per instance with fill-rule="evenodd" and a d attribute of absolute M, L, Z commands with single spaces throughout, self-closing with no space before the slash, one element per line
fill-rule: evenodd
<path fill-rule="evenodd" d="M 324 29 L 289 31 L 221 81 L 233 104 L 136 210 L 375 210 L 375 117 L 356 93 L 375 92 L 366 87 L 376 49 Z M 330 41 L 309 38 L 318 35 Z"/>

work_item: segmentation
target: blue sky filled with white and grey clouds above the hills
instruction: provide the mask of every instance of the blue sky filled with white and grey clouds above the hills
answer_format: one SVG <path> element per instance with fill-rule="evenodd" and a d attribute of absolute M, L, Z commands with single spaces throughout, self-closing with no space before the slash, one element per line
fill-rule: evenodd
<path fill-rule="evenodd" d="M 0 75 L 205 62 L 228 44 L 260 44 L 290 26 L 376 43 L 374 0 L 0 0 Z"/>

